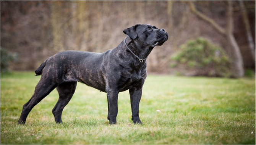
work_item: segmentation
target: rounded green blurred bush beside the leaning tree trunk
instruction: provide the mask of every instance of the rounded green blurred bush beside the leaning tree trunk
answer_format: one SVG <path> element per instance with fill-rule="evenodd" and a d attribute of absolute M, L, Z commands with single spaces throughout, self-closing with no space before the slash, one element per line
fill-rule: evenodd
<path fill-rule="evenodd" d="M 229 76 L 230 59 L 224 50 L 203 37 L 188 40 L 172 56 L 172 67 L 183 65 L 193 76 Z"/>

